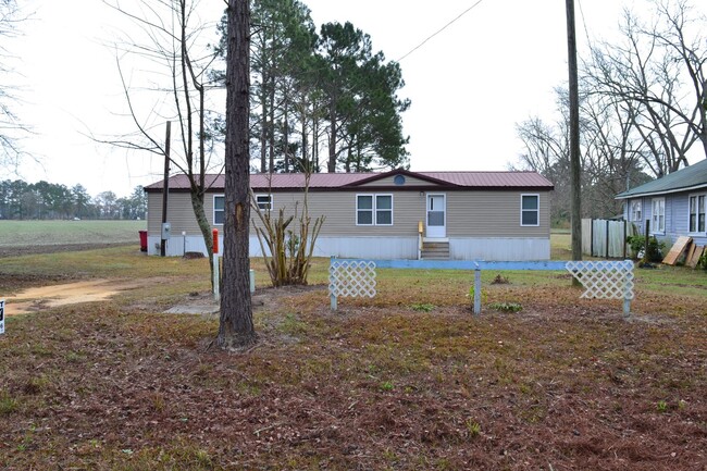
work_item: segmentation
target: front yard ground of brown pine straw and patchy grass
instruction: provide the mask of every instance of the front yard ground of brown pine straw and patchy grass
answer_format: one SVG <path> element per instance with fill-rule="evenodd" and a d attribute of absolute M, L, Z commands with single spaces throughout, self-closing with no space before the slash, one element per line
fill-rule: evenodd
<path fill-rule="evenodd" d="M 381 271 L 380 296 L 340 300 L 336 313 L 324 286 L 261 289 L 258 346 L 234 355 L 209 348 L 213 317 L 161 313 L 207 289 L 203 264 L 114 253 L 149 286 L 8 320 L 1 469 L 707 466 L 704 272 L 636 271 L 629 320 L 620 301 L 579 300 L 560 273 L 504 273 L 497 285 L 484 274 L 480 317 L 460 272 Z M 4 283 L 62 265 L 41 260 L 22 273 L 0 263 Z"/>

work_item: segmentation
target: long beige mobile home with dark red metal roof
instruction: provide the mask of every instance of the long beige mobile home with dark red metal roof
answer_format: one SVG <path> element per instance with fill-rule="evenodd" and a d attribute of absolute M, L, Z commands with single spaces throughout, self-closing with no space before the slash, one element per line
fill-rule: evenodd
<path fill-rule="evenodd" d="M 224 179 L 210 175 L 204 200 L 212 227 L 224 221 Z M 252 174 L 257 204 L 292 211 L 303 197 L 303 174 Z M 148 253 L 159 253 L 162 187 L 148 196 Z M 549 191 L 534 172 L 318 173 L 309 183 L 309 213 L 326 218 L 314 255 L 372 259 L 548 260 Z M 251 214 L 253 216 L 253 214 Z M 168 255 L 206 251 L 184 175 L 169 182 Z M 251 218 L 252 219 L 252 218 Z M 422 227 L 422 233 L 418 230 Z M 184 235 L 183 235 L 184 233 Z M 424 241 L 420 253 L 420 240 Z M 433 246 L 434 245 L 434 246 Z M 434 248 L 433 248 L 434 247 Z M 251 230 L 250 256 L 260 245 Z"/>

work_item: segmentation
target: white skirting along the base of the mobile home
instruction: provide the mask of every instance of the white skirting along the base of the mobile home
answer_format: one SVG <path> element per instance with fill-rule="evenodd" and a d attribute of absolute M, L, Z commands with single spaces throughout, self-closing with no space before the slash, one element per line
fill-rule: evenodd
<path fill-rule="evenodd" d="M 449 237 L 450 260 L 535 261 L 550 259 L 550 239 L 513 237 Z M 418 258 L 418 237 L 326 237 L 320 236 L 314 257 L 361 258 L 377 260 L 414 260 Z M 223 236 L 220 236 L 223 247 Z M 185 252 L 207 253 L 198 235 L 174 235 L 166 243 L 168 257 Z M 148 255 L 160 255 L 160 236 L 148 236 Z M 250 257 L 260 257 L 258 237 L 250 237 Z"/>

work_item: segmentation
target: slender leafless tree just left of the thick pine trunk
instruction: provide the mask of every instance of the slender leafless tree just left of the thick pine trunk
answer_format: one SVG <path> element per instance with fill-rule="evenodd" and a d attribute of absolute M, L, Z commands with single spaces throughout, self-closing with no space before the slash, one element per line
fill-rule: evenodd
<path fill-rule="evenodd" d="M 212 142 L 209 141 L 211 133 L 206 128 L 209 112 L 206 92 L 211 87 L 208 72 L 216 54 L 202 35 L 208 32 L 215 34 L 216 22 L 200 22 L 196 14 L 198 0 L 142 0 L 137 7 L 139 11 L 125 10 L 120 3 L 108 0 L 106 4 L 138 26 L 144 40 L 137 42 L 136 35 L 133 35 L 115 46 L 117 69 L 137 133 L 104 141 L 169 157 L 170 166 L 188 178 L 191 208 L 212 264 L 213 238 L 203 202 L 212 183 L 207 179 L 207 174 L 220 173 L 222 166 L 218 159 L 212 162 L 212 156 L 207 153 L 207 146 L 211 147 Z M 148 69 L 152 70 L 148 74 L 158 76 L 149 89 L 154 104 L 148 111 L 139 109 L 134 98 L 137 91 L 124 74 L 122 61 L 128 58 L 147 61 Z M 177 124 L 179 145 L 173 146 L 168 154 L 162 136 L 154 131 L 158 124 L 170 120 Z"/>

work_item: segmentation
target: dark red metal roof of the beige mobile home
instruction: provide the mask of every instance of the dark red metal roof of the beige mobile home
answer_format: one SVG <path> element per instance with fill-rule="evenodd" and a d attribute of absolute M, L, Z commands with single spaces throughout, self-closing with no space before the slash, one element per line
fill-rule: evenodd
<path fill-rule="evenodd" d="M 507 189 L 523 188 L 529 190 L 549 190 L 553 184 L 535 172 L 410 172 L 394 170 L 385 173 L 313 173 L 310 175 L 309 188 L 313 191 L 350 190 L 360 185 L 387 178 L 394 175 L 405 175 L 437 185 L 444 189 Z M 302 173 L 253 173 L 250 175 L 250 187 L 253 190 L 288 190 L 305 187 L 306 175 Z M 207 175 L 206 184 L 211 190 L 223 190 L 223 175 Z M 170 190 L 188 190 L 189 179 L 179 174 L 170 177 Z M 146 186 L 146 191 L 161 191 L 162 181 Z M 390 186 L 392 188 L 421 189 L 430 188 L 421 185 Z M 382 188 L 376 186 L 376 188 Z"/>

